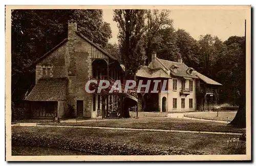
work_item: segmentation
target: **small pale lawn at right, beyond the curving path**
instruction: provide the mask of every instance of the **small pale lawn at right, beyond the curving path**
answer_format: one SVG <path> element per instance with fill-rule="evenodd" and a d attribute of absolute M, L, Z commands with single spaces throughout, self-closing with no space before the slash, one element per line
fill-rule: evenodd
<path fill-rule="evenodd" d="M 217 112 L 212 113 L 195 113 L 195 114 L 188 114 L 186 117 L 191 118 L 201 118 L 201 119 L 210 119 L 210 120 L 220 120 L 220 121 L 232 121 L 237 113 L 228 113 L 228 112 L 221 112 L 217 117 Z"/>

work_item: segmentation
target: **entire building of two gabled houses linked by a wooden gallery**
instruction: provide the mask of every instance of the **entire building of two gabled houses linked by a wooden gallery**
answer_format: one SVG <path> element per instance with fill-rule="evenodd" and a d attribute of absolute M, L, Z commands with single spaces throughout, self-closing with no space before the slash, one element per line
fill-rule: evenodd
<path fill-rule="evenodd" d="M 182 60 L 165 61 L 153 53 L 152 62 L 143 66 L 137 77 L 167 80 L 168 93 L 91 94 L 84 90 L 90 79 L 118 79 L 124 84 L 124 70 L 115 57 L 78 32 L 75 21 L 69 21 L 68 38 L 36 62 L 35 86 L 25 100 L 34 118 L 67 117 L 71 107 L 76 117 L 105 118 L 117 110 L 122 114 L 137 102 L 139 110 L 208 110 L 216 86 L 221 85 L 187 67 Z"/>

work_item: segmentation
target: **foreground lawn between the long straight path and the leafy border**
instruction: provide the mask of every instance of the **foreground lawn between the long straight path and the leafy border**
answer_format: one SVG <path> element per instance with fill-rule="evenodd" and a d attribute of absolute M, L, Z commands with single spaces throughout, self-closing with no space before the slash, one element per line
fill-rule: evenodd
<path fill-rule="evenodd" d="M 149 148 L 157 148 L 160 150 L 168 150 L 172 148 L 173 154 L 179 151 L 193 154 L 193 151 L 204 152 L 206 154 L 245 154 L 246 143 L 239 141 L 238 147 L 236 143 L 227 141 L 234 136 L 217 135 L 217 134 L 201 134 L 201 133 L 172 133 L 160 131 L 132 131 L 132 130 L 110 130 L 110 129 L 90 129 L 90 128 L 66 128 L 66 127 L 24 127 L 13 126 L 12 132 L 33 132 L 36 134 L 51 134 L 70 140 L 94 140 L 115 143 L 118 146 L 131 145 Z M 235 136 L 236 137 L 236 136 Z M 16 154 L 20 152 L 16 150 Z M 15 147 L 14 147 L 15 150 Z M 38 151 L 46 151 L 47 149 Z M 28 150 L 25 150 L 28 151 Z M 31 149 L 31 151 L 33 151 Z M 48 151 L 48 150 L 47 150 Z M 62 151 L 62 150 L 60 150 Z M 42 153 L 44 153 L 42 152 Z M 46 152 L 48 153 L 48 152 Z M 46 154 L 45 153 L 45 154 Z M 54 152 L 55 153 L 55 152 Z M 53 153 L 53 154 L 54 154 Z M 59 154 L 62 152 L 59 152 Z M 63 152 L 65 153 L 65 152 Z M 28 154 L 24 152 L 23 154 Z M 40 154 L 40 152 L 35 153 Z M 67 152 L 69 154 L 69 152 Z"/>

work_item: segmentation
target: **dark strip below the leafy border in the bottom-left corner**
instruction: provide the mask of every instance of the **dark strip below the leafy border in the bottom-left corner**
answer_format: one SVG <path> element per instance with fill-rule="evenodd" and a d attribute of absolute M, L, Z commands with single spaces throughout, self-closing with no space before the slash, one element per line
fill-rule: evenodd
<path fill-rule="evenodd" d="M 74 150 L 47 147 L 12 146 L 13 156 L 44 156 L 44 155 L 92 155 Z"/>

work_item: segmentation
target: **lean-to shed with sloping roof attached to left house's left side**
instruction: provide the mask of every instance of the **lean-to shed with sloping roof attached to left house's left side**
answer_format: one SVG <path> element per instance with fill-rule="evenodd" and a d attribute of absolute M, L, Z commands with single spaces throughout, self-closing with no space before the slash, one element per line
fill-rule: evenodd
<path fill-rule="evenodd" d="M 67 115 L 67 78 L 39 79 L 25 100 L 32 118 L 63 118 Z"/>

